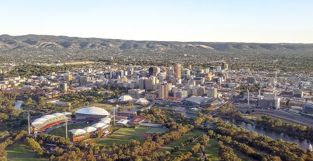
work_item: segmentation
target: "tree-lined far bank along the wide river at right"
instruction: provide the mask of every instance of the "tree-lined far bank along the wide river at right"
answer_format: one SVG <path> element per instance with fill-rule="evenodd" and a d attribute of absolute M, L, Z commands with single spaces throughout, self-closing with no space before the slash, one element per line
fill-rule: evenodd
<path fill-rule="evenodd" d="M 267 126 L 264 126 L 264 125 L 257 124 L 254 120 L 250 120 L 250 119 L 236 118 L 236 117 L 227 117 L 227 116 L 223 116 L 223 115 L 221 115 L 219 113 L 216 114 L 215 116 L 216 117 L 223 117 L 223 118 L 233 119 L 233 120 L 237 120 L 237 121 L 242 121 L 242 122 L 254 125 L 254 126 L 262 127 L 264 129 L 268 129 L 268 130 L 284 133 L 284 134 L 287 134 L 287 135 L 296 136 L 296 137 L 298 137 L 299 140 L 301 140 L 301 139 L 302 140 L 303 139 L 312 140 L 313 139 L 313 136 L 312 137 L 308 137 L 308 136 L 300 135 L 300 134 L 295 133 L 295 132 L 284 131 L 284 130 L 281 130 L 280 128 L 277 128 L 277 127 L 273 127 L 273 128 L 267 127 Z"/>

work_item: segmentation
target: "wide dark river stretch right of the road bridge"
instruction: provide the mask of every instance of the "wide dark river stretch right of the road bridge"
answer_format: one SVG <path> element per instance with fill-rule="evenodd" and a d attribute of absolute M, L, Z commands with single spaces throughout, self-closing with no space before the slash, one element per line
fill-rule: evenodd
<path fill-rule="evenodd" d="M 293 143 L 298 143 L 299 147 L 304 149 L 304 150 L 306 150 L 306 148 L 309 148 L 310 144 L 313 144 L 312 140 L 307 140 L 307 139 L 299 140 L 297 136 L 288 136 L 285 133 L 280 133 L 277 131 L 264 129 L 262 127 L 248 124 L 248 123 L 245 123 L 243 121 L 237 121 L 234 119 L 228 119 L 228 118 L 223 118 L 223 117 L 218 117 L 218 119 L 221 119 L 221 120 L 228 122 L 228 123 L 231 123 L 231 124 L 235 124 L 236 126 L 240 125 L 246 130 L 255 131 L 258 134 L 269 136 L 270 138 L 272 138 L 274 140 L 282 139 L 285 142 L 289 141 L 289 142 L 293 142 Z"/>

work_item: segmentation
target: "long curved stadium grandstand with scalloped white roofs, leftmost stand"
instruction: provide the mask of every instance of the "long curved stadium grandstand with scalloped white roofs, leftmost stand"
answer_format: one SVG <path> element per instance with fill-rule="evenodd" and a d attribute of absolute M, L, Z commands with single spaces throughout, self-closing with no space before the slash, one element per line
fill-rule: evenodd
<path fill-rule="evenodd" d="M 41 116 L 32 122 L 31 129 L 34 131 L 34 135 L 36 136 L 38 132 L 42 133 L 50 127 L 65 123 L 66 120 L 67 122 L 71 122 L 71 115 L 72 113 L 70 112 L 62 112 Z"/>

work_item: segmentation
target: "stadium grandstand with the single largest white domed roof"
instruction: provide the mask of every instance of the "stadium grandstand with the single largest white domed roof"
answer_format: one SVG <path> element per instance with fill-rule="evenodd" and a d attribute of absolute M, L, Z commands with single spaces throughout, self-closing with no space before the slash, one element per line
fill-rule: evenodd
<path fill-rule="evenodd" d="M 75 111 L 76 121 L 95 121 L 110 116 L 110 113 L 99 107 L 85 107 Z"/>

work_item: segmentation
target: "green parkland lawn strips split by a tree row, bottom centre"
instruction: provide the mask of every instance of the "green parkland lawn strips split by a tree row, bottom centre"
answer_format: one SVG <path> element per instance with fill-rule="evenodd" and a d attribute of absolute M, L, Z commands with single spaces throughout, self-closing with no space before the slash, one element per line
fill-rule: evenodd
<path fill-rule="evenodd" d="M 180 144 L 185 142 L 185 140 L 187 140 L 188 138 L 195 137 L 196 135 L 201 135 L 201 134 L 207 134 L 207 133 L 204 132 L 204 131 L 198 131 L 198 130 L 189 131 L 189 132 L 187 132 L 186 135 L 181 136 L 179 138 L 179 140 L 175 140 L 172 143 L 169 143 L 167 145 L 162 146 L 161 148 L 157 149 L 156 152 L 163 152 L 163 153 L 165 151 L 169 151 L 170 152 L 174 148 L 174 146 L 180 146 Z M 197 143 L 197 140 L 194 142 L 194 144 L 196 144 L 196 143 Z M 191 143 L 191 144 L 193 144 L 193 143 Z M 175 155 L 179 155 L 179 154 L 182 154 L 182 153 L 186 153 L 193 146 L 193 145 L 190 146 L 191 144 L 189 144 L 188 146 L 186 146 L 184 148 L 179 149 L 176 153 L 171 154 L 171 156 L 175 156 Z M 189 146 L 190 146 L 190 148 L 189 148 Z"/>

